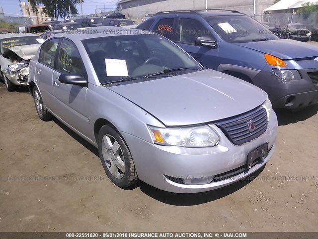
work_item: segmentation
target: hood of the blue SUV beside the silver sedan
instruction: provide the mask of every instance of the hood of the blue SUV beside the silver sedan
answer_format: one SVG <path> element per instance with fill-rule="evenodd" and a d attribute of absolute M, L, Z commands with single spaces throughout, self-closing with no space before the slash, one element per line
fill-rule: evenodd
<path fill-rule="evenodd" d="M 282 60 L 309 57 L 315 58 L 318 56 L 318 47 L 304 42 L 289 39 L 246 42 L 236 44 L 255 51 L 276 56 Z"/>

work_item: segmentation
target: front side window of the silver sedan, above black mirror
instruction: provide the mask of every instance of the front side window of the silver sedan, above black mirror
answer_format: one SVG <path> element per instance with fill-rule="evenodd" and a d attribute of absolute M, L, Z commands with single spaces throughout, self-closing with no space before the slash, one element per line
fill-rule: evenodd
<path fill-rule="evenodd" d="M 74 43 L 69 40 L 62 40 L 57 70 L 62 73 L 78 73 L 84 75 L 82 71 L 83 63 L 79 51 Z"/>

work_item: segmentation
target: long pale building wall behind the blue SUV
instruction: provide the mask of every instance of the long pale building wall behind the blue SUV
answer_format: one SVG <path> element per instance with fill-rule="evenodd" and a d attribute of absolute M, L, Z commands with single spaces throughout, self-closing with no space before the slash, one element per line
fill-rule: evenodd
<path fill-rule="evenodd" d="M 238 10 L 253 16 L 261 15 L 265 8 L 274 4 L 274 0 L 121 0 L 117 4 L 126 17 L 138 19 L 146 13 L 159 11 L 205 9 L 206 3 L 208 9 Z"/>

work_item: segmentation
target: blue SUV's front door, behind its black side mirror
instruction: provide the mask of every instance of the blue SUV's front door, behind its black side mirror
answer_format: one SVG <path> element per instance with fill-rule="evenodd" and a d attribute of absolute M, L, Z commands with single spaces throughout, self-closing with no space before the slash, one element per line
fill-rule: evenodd
<path fill-rule="evenodd" d="M 217 69 L 219 65 L 218 45 L 215 48 L 195 45 L 199 36 L 210 36 L 216 39 L 208 25 L 194 18 L 180 17 L 177 22 L 174 42 L 189 53 L 203 66 Z"/>

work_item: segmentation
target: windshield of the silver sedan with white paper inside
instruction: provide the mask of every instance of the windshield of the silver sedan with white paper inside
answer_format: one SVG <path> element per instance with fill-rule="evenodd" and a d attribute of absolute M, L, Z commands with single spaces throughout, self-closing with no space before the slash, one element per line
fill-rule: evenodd
<path fill-rule="evenodd" d="M 100 37 L 83 40 L 83 45 L 101 84 L 202 69 L 192 57 L 159 35 Z"/>

